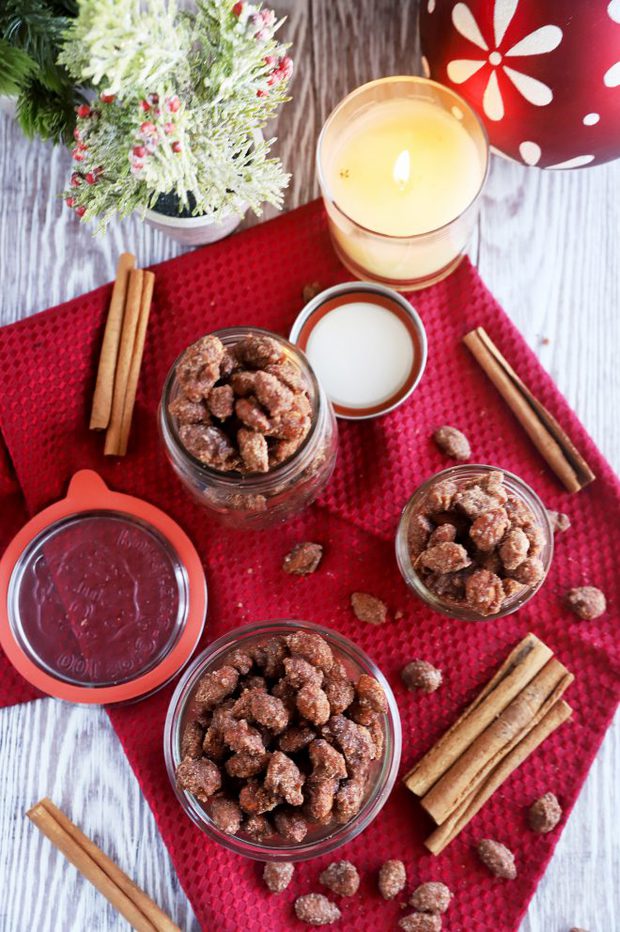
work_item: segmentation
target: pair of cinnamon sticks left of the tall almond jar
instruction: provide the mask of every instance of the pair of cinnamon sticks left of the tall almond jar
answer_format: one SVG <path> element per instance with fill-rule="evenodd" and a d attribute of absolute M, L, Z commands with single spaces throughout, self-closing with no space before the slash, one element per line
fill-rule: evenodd
<path fill-rule="evenodd" d="M 127 452 L 151 311 L 155 275 L 135 265 L 128 252 L 118 261 L 93 397 L 90 429 L 106 431 L 106 456 Z"/>

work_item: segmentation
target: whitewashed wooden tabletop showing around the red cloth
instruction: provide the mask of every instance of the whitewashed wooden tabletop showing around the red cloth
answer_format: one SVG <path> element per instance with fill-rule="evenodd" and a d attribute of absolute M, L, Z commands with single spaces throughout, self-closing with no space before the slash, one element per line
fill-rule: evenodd
<path fill-rule="evenodd" d="M 297 65 L 294 101 L 275 127 L 293 172 L 288 209 L 317 194 L 313 150 L 333 105 L 364 81 L 418 71 L 416 4 L 288 0 L 276 6 L 289 13 L 285 31 Z M 28 143 L 10 118 L 0 116 L 1 324 L 109 281 L 125 249 L 143 265 L 181 251 L 135 218 L 93 239 L 56 198 L 69 170 L 66 153 Z M 471 246 L 487 285 L 616 468 L 619 190 L 620 162 L 554 173 L 494 160 Z M 620 929 L 618 774 L 617 719 L 522 932 Z M 0 932 L 127 928 L 25 819 L 26 809 L 45 795 L 182 929 L 197 928 L 105 712 L 49 699 L 0 712 Z"/>

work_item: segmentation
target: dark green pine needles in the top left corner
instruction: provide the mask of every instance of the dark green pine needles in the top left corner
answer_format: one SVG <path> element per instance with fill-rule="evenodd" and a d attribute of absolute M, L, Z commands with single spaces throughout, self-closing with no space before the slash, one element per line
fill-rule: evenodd
<path fill-rule="evenodd" d="M 84 98 L 57 58 L 76 13 L 73 0 L 0 0 L 0 94 L 29 137 L 71 141 Z"/>

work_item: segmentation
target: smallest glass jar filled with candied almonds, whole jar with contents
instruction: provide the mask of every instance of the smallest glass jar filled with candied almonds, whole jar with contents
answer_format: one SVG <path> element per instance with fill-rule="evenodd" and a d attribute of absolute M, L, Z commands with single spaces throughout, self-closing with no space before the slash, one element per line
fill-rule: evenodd
<path fill-rule="evenodd" d="M 424 482 L 396 534 L 396 559 L 410 589 L 463 621 L 501 618 L 540 589 L 553 557 L 547 510 L 518 476 L 459 465 Z"/>

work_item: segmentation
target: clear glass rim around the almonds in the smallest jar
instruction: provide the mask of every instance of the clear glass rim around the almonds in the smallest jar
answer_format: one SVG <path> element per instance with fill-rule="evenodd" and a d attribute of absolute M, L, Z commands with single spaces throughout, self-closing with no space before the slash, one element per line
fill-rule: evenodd
<path fill-rule="evenodd" d="M 413 568 L 409 554 L 408 532 L 409 523 L 413 516 L 415 506 L 423 499 L 423 496 L 428 491 L 428 489 L 436 482 L 441 482 L 444 479 L 473 477 L 473 475 L 476 473 L 488 474 L 490 472 L 501 472 L 504 476 L 504 479 L 508 480 L 510 491 L 519 495 L 519 497 L 523 499 L 528 506 L 534 506 L 535 517 L 539 519 L 542 531 L 545 535 L 545 547 L 543 550 L 543 554 L 545 556 L 543 560 L 545 573 L 542 579 L 539 580 L 535 586 L 528 586 L 526 587 L 525 592 L 517 592 L 513 596 L 509 596 L 507 599 L 505 599 L 499 612 L 495 612 L 492 615 L 481 615 L 480 612 L 475 612 L 457 604 L 452 604 L 447 600 L 441 599 L 424 584 L 422 577 Z M 446 469 L 442 469 L 440 472 L 434 473 L 416 488 L 402 510 L 396 531 L 395 548 L 396 562 L 398 563 L 401 576 L 409 588 L 418 596 L 418 598 L 425 602 L 430 608 L 437 612 L 441 612 L 441 614 L 447 615 L 450 618 L 456 618 L 460 621 L 477 622 L 495 621 L 498 618 L 503 618 L 506 615 L 510 615 L 520 609 L 523 605 L 529 602 L 529 600 L 534 595 L 536 595 L 538 590 L 545 582 L 551 567 L 551 562 L 553 560 L 554 541 L 553 529 L 551 527 L 547 509 L 545 508 L 545 505 L 543 504 L 539 495 L 530 485 L 528 485 L 527 482 L 525 482 L 524 479 L 521 479 L 520 476 L 517 476 L 516 473 L 510 472 L 508 469 L 503 469 L 501 466 L 490 466 L 489 464 L 485 463 L 459 463 L 456 466 L 448 466 Z M 505 608 L 504 605 L 506 606 Z"/>

